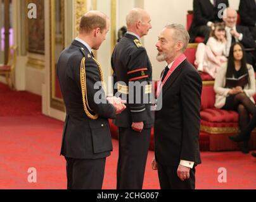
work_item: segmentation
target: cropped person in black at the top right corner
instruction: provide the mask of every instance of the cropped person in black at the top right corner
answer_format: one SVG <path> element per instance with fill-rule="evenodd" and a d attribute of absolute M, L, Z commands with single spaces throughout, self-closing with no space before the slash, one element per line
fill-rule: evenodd
<path fill-rule="evenodd" d="M 239 14 L 241 17 L 241 25 L 248 27 L 253 35 L 253 39 L 256 40 L 256 1 L 240 1 Z"/>

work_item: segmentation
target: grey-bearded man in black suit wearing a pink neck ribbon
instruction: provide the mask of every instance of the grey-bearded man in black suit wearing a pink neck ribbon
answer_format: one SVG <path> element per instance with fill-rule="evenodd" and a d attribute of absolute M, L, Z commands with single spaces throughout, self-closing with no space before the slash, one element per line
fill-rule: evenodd
<path fill-rule="evenodd" d="M 155 160 L 161 189 L 195 189 L 199 150 L 202 80 L 183 52 L 189 42 L 182 25 L 167 25 L 157 42 L 159 62 L 166 61 L 155 112 Z M 157 102 L 157 103 L 158 103 Z"/>

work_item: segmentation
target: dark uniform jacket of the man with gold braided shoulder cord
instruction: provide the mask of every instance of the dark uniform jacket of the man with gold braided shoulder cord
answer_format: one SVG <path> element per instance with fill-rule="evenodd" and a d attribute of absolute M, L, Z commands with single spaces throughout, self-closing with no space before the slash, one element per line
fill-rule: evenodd
<path fill-rule="evenodd" d="M 89 119 L 84 112 L 80 86 L 80 63 L 86 57 L 86 85 L 89 107 L 99 115 Z M 57 64 L 57 76 L 65 102 L 67 117 L 63 129 L 61 155 L 68 158 L 94 159 L 110 155 L 112 138 L 108 118 L 115 118 L 115 108 L 107 104 L 105 92 L 101 89 L 106 104 L 96 104 L 94 83 L 100 81 L 98 64 L 91 52 L 77 40 L 61 52 Z"/>

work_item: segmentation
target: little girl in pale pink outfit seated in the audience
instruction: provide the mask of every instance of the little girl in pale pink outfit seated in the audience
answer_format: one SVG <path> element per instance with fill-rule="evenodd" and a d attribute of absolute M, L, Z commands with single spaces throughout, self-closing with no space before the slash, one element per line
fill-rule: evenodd
<path fill-rule="evenodd" d="M 198 44 L 195 65 L 198 71 L 203 71 L 215 78 L 217 69 L 227 61 L 226 31 L 224 23 L 215 23 L 207 44 Z"/>

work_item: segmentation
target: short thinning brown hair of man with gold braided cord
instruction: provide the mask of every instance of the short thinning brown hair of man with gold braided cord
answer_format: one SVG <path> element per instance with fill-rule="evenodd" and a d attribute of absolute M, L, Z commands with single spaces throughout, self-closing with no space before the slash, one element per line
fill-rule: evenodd
<path fill-rule="evenodd" d="M 81 18 L 79 33 L 89 33 L 95 28 L 100 28 L 102 32 L 102 30 L 106 29 L 107 19 L 108 17 L 100 11 L 88 11 Z"/>

